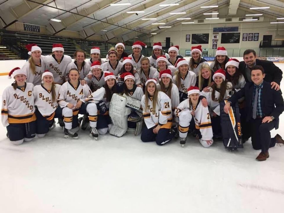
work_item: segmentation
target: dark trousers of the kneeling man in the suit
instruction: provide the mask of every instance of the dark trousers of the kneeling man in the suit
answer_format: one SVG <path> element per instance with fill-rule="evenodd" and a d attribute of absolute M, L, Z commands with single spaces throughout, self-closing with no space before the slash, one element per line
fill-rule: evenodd
<path fill-rule="evenodd" d="M 266 152 L 270 147 L 275 146 L 274 138 L 271 138 L 270 131 L 275 128 L 274 121 L 261 123 L 263 118 L 251 120 L 252 124 L 252 147 L 255 150 Z"/>

